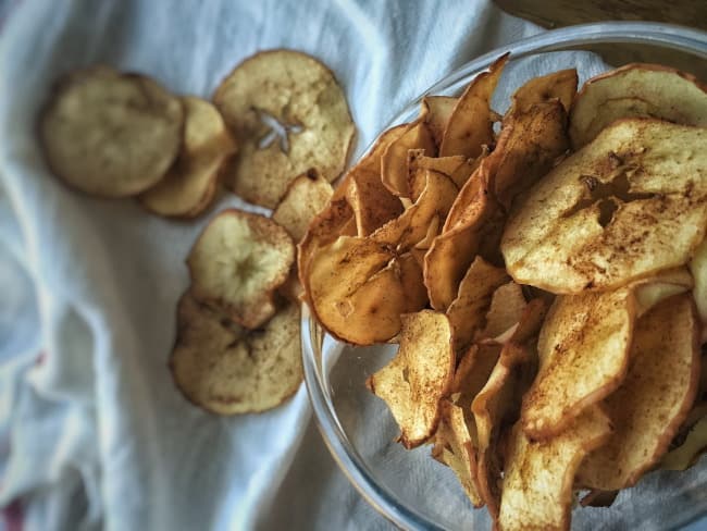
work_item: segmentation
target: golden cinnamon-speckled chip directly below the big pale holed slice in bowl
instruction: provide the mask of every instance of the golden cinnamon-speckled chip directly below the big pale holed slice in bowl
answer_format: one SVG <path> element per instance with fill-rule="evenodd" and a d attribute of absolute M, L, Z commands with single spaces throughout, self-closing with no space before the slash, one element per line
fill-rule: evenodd
<path fill-rule="evenodd" d="M 537 376 L 523 397 L 521 423 L 528 436 L 559 434 L 621 384 L 634 317 L 628 288 L 555 299 L 537 342 Z"/>

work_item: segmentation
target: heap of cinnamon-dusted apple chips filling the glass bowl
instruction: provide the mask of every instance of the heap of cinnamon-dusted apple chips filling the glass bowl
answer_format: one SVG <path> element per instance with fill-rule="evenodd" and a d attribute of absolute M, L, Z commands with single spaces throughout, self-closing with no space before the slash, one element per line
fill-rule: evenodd
<path fill-rule="evenodd" d="M 566 70 L 501 116 L 507 59 L 381 135 L 299 274 L 332 335 L 398 344 L 367 384 L 406 448 L 497 529 L 568 529 L 574 493 L 610 504 L 707 447 L 707 92 L 649 64 L 576 92 Z"/>

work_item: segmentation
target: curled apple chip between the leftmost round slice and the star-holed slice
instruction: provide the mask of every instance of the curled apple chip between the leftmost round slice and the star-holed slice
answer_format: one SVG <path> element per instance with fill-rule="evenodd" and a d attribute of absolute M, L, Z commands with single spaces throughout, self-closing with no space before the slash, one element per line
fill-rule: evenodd
<path fill-rule="evenodd" d="M 139 196 L 148 210 L 169 217 L 194 218 L 211 202 L 219 172 L 236 151 L 236 144 L 213 104 L 200 98 L 182 98 L 184 144 L 164 178 Z"/>

